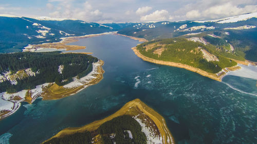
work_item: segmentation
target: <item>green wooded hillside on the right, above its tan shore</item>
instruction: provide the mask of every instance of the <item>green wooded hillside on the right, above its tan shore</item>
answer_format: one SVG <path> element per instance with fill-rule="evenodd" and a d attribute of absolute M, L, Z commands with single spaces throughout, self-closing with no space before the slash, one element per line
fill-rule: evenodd
<path fill-rule="evenodd" d="M 222 55 L 222 52 L 216 51 L 215 46 L 192 42 L 185 38 L 152 40 L 138 45 L 137 49 L 150 58 L 186 64 L 210 73 L 217 73 L 223 68 L 236 65 L 235 61 Z M 204 58 L 202 51 L 216 60 Z"/>

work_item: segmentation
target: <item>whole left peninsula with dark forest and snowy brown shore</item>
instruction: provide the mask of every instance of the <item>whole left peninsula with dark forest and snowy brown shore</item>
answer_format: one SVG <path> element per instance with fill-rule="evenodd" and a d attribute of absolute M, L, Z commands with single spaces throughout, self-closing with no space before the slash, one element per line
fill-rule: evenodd
<path fill-rule="evenodd" d="M 82 53 L 20 52 L 0 54 L 0 119 L 22 101 L 59 99 L 97 84 L 104 62 Z"/>

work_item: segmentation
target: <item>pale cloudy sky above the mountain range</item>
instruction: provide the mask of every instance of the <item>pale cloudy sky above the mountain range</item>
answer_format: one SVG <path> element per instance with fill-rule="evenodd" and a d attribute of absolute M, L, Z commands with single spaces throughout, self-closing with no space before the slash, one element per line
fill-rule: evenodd
<path fill-rule="evenodd" d="M 0 4 L 0 14 L 98 23 L 210 20 L 256 11 L 256 0 L 1 0 Z"/>

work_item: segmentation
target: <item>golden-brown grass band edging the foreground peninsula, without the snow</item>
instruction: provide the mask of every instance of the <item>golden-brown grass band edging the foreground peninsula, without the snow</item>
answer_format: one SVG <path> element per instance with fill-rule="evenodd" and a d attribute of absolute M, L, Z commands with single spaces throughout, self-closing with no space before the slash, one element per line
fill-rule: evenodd
<path fill-rule="evenodd" d="M 65 135 L 74 134 L 76 132 L 92 132 L 97 130 L 104 122 L 125 114 L 131 116 L 136 116 L 140 114 L 141 116 L 145 115 L 144 118 L 149 117 L 152 121 L 154 121 L 154 124 L 157 126 L 161 136 L 164 137 L 163 143 L 171 143 L 171 140 L 174 141 L 174 138 L 172 137 L 170 130 L 167 128 L 164 118 L 156 111 L 145 105 L 140 99 L 135 99 L 130 102 L 127 102 L 119 111 L 104 119 L 96 120 L 88 125 L 79 128 L 66 128 L 57 133 L 56 135 L 54 135 L 52 138 L 63 137 Z M 170 139 L 170 142 L 168 142 L 168 138 Z"/>

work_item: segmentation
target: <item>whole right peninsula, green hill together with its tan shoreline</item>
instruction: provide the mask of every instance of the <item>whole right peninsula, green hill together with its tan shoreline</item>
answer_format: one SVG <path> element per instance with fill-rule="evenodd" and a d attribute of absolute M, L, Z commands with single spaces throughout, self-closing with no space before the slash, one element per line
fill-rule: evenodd
<path fill-rule="evenodd" d="M 242 57 L 225 46 L 218 48 L 197 38 L 169 38 L 151 40 L 132 48 L 135 54 L 151 63 L 178 67 L 196 72 L 214 80 L 222 81 L 229 71 L 241 69 L 237 63 L 248 65 Z M 233 59 L 233 58 L 238 59 Z"/>

